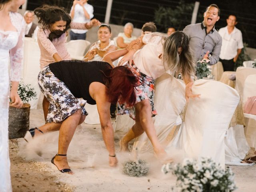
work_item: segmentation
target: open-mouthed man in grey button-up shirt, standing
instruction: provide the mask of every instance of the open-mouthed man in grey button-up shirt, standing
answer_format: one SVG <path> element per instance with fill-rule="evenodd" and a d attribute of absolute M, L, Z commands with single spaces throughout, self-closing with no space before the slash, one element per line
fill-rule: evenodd
<path fill-rule="evenodd" d="M 211 4 L 204 12 L 202 23 L 191 24 L 184 28 L 183 31 L 190 40 L 189 45 L 194 53 L 195 62 L 203 58 L 208 58 L 210 65 L 218 62 L 222 37 L 214 25 L 219 19 L 220 9 L 216 4 Z"/>

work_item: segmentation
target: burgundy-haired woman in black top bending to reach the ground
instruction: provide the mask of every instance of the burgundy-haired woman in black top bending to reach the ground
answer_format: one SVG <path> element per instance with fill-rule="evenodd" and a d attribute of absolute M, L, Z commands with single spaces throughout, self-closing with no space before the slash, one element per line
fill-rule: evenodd
<path fill-rule="evenodd" d="M 119 99 L 119 102 L 134 105 L 134 87 L 138 78 L 126 66 L 113 68 L 112 61 L 126 54 L 133 44 L 127 49 L 106 54 L 103 61 L 64 60 L 44 67 L 39 73 L 40 90 L 50 102 L 48 123 L 30 129 L 24 139 L 29 142 L 34 136 L 60 130 L 58 153 L 52 158 L 52 164 L 60 172 L 73 174 L 66 153 L 76 127 L 84 122 L 87 115 L 86 102 L 97 105 L 103 140 L 109 152 L 109 165 L 117 165 L 110 104 Z"/>

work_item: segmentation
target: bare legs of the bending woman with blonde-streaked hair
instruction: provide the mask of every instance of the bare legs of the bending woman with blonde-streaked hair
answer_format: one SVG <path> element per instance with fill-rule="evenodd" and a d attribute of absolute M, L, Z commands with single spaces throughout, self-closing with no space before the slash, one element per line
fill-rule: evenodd
<path fill-rule="evenodd" d="M 122 138 L 122 147 L 128 148 L 128 142 L 130 140 L 140 136 L 144 131 L 146 132 L 149 140 L 151 141 L 154 152 L 158 157 L 166 156 L 164 148 L 158 141 L 156 136 L 156 130 L 152 119 L 152 110 L 150 103 L 147 99 L 142 100 L 135 106 L 136 110 L 136 122 L 132 129 Z"/>

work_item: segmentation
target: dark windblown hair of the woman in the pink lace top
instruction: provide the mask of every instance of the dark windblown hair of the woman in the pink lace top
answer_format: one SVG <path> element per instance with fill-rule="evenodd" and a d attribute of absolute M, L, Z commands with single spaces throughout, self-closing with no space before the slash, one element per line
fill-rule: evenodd
<path fill-rule="evenodd" d="M 36 8 L 34 10 L 34 13 L 38 17 L 38 23 L 40 24 L 40 28 L 42 28 L 43 30 L 45 29 L 50 30 L 50 27 L 52 24 L 61 20 L 67 22 L 66 29 L 63 32 L 66 32 L 70 28 L 71 17 L 64 10 L 63 7 L 43 5 L 41 7 Z"/>

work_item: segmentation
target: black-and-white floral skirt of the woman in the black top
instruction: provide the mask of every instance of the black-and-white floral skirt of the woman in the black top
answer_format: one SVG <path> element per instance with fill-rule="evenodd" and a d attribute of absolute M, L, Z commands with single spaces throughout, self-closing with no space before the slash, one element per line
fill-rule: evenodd
<path fill-rule="evenodd" d="M 78 109 L 82 109 L 83 115 L 88 115 L 84 109 L 86 100 L 74 97 L 64 82 L 56 78 L 48 66 L 38 74 L 38 84 L 50 102 L 47 122 L 61 122 Z"/>

